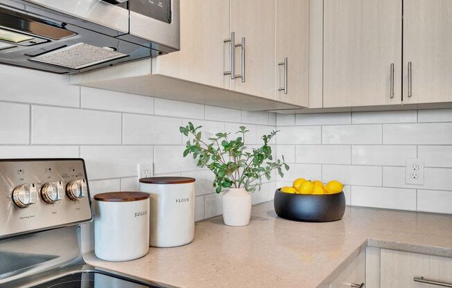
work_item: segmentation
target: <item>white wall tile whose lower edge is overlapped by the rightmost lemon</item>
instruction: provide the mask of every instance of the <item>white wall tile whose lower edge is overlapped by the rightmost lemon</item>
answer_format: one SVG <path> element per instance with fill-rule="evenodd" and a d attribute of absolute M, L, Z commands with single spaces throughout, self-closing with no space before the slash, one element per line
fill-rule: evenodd
<path fill-rule="evenodd" d="M 322 165 L 322 181 L 338 180 L 349 185 L 381 186 L 381 167 Z"/>

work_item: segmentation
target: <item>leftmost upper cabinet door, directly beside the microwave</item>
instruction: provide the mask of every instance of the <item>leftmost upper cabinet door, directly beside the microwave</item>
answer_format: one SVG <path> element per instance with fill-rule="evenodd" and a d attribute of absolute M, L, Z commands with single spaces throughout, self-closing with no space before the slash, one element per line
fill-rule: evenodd
<path fill-rule="evenodd" d="M 153 60 L 153 73 L 229 89 L 229 0 L 180 1 L 180 51 Z"/>

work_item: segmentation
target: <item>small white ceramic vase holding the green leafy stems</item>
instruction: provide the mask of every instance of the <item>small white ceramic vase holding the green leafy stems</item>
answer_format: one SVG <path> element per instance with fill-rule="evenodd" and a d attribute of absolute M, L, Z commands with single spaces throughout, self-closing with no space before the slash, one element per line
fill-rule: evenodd
<path fill-rule="evenodd" d="M 227 226 L 246 226 L 251 218 L 251 195 L 245 188 L 223 193 L 223 221 Z"/>

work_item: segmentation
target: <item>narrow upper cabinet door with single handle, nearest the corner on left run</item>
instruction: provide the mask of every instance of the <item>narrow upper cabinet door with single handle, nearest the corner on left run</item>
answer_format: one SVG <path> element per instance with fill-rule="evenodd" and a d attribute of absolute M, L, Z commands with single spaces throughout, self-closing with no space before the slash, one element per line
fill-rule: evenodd
<path fill-rule="evenodd" d="M 309 0 L 276 0 L 276 100 L 308 107 L 308 40 Z"/>

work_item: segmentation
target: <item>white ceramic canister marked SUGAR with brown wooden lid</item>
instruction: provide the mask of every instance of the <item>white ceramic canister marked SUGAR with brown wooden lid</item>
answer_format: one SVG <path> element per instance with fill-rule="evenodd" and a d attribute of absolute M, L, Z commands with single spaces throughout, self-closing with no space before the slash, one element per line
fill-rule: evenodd
<path fill-rule="evenodd" d="M 128 261 L 149 251 L 149 194 L 108 192 L 94 196 L 94 252 L 107 261 Z"/>

